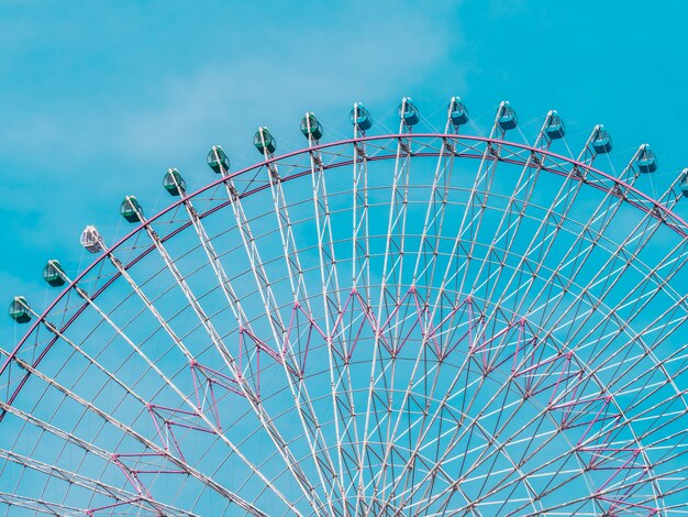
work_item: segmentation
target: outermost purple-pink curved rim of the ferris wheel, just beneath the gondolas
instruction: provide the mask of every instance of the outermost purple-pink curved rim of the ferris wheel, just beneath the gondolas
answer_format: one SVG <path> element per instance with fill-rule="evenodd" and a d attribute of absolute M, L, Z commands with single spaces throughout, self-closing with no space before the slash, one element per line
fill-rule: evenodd
<path fill-rule="evenodd" d="M 55 308 L 55 306 L 57 306 L 57 304 L 73 289 L 75 288 L 75 286 L 78 285 L 78 283 L 89 273 L 91 272 L 96 266 L 98 266 L 98 264 L 102 263 L 108 255 L 110 255 L 112 252 L 114 252 L 115 250 L 118 250 L 120 246 L 122 246 L 126 241 L 129 241 L 131 238 L 133 238 L 134 235 L 136 235 L 138 232 L 141 232 L 142 230 L 145 230 L 147 227 L 149 227 L 153 222 L 155 222 L 157 219 L 160 219 L 163 216 L 165 216 L 166 213 L 170 212 L 171 210 L 178 208 L 179 206 L 182 206 L 186 201 L 192 200 L 195 198 L 197 198 L 198 196 L 202 195 L 203 193 L 223 184 L 226 183 L 228 180 L 234 179 L 236 177 L 240 177 L 244 174 L 249 173 L 251 170 L 254 169 L 259 169 L 260 167 L 266 167 L 269 166 L 270 164 L 293 157 L 293 156 L 299 156 L 299 155 L 304 155 L 304 154 L 310 154 L 310 153 L 314 153 L 314 152 L 319 152 L 322 150 L 328 150 L 331 147 L 339 147 L 339 146 L 344 146 L 344 145 L 352 145 L 352 144 L 358 144 L 358 143 L 367 143 L 367 142 L 376 142 L 376 141 L 382 141 L 382 140 L 400 140 L 400 139 L 423 139 L 423 140 L 431 140 L 431 139 L 443 139 L 443 140 L 453 140 L 453 141 L 468 141 L 468 142 L 475 142 L 475 143 L 482 143 L 482 144 L 487 144 L 487 145 L 498 145 L 498 146 L 508 146 L 508 147 L 515 147 L 520 151 L 528 151 L 530 153 L 539 153 L 541 155 L 557 160 L 557 161 L 562 161 L 565 162 L 569 165 L 572 165 L 573 167 L 577 167 L 577 168 L 581 168 L 586 172 L 591 172 L 595 174 L 600 175 L 603 179 L 612 182 L 614 185 L 621 186 L 624 189 L 626 189 L 628 191 L 633 193 L 635 196 L 640 197 L 641 199 L 652 204 L 653 208 L 652 209 L 646 209 L 643 206 L 639 206 L 637 204 L 634 202 L 630 202 L 628 200 L 628 198 L 623 198 L 624 201 L 629 202 L 629 205 L 633 206 L 635 209 L 639 209 L 641 211 L 644 211 L 645 213 L 651 213 L 652 210 L 656 210 L 658 212 L 662 213 L 662 216 L 670 216 L 674 220 L 676 220 L 678 222 L 678 224 L 680 227 L 683 227 L 685 230 L 679 230 L 678 228 L 667 224 L 666 217 L 659 217 L 658 215 L 654 215 L 654 217 L 656 219 L 659 220 L 659 222 L 664 226 L 666 226 L 667 228 L 669 228 L 672 231 L 674 231 L 675 233 L 677 233 L 680 237 L 688 237 L 688 222 L 685 221 L 680 216 L 678 216 L 673 209 L 667 208 L 663 205 L 661 205 L 659 202 L 657 202 L 657 200 L 653 199 L 651 196 L 648 196 L 647 194 L 643 193 L 642 190 L 635 188 L 633 185 L 629 184 L 628 182 L 624 182 L 621 178 L 615 178 L 613 177 L 611 174 L 606 173 L 597 167 L 593 167 L 591 164 L 586 164 L 579 160 L 573 158 L 573 157 L 568 157 L 568 156 L 564 156 L 562 154 L 558 153 L 554 153 L 552 151 L 550 151 L 548 148 L 543 148 L 543 147 L 536 147 L 534 145 L 530 145 L 530 144 L 522 144 L 519 142 L 512 142 L 509 140 L 502 140 L 502 139 L 496 139 L 496 138 L 490 138 L 490 136 L 484 136 L 484 135 L 470 135 L 470 134 L 457 134 L 457 133 L 387 133 L 387 134 L 379 134 L 379 135 L 363 135 L 363 136 L 356 136 L 353 139 L 345 139 L 345 140 L 339 140 L 335 142 L 328 142 L 328 143 L 319 143 L 317 145 L 312 145 L 310 147 L 303 147 L 297 151 L 291 151 L 289 153 L 285 153 L 278 156 L 268 156 L 266 160 L 260 161 L 260 162 L 256 162 L 247 167 L 244 167 L 233 174 L 229 174 L 226 177 L 221 176 L 218 179 L 210 182 L 209 184 L 202 186 L 201 188 L 197 189 L 196 191 L 186 195 L 186 196 L 180 196 L 179 199 L 173 201 L 171 204 L 169 204 L 168 206 L 166 206 L 164 209 L 162 209 L 160 211 L 158 211 L 157 213 L 155 213 L 154 216 L 146 218 L 145 220 L 143 220 L 142 222 L 140 222 L 136 227 L 134 227 L 129 233 L 124 234 L 122 238 L 120 238 L 114 244 L 112 244 L 111 246 L 107 246 L 106 250 L 103 250 L 89 265 L 87 265 L 81 272 L 79 272 L 74 278 L 71 278 L 71 280 L 69 283 L 67 283 L 64 287 L 64 289 L 53 299 L 53 301 L 40 314 L 38 318 L 35 319 L 34 322 L 32 322 L 32 324 L 27 328 L 26 332 L 24 333 L 24 336 L 21 338 L 21 340 L 19 341 L 19 343 L 14 346 L 14 349 L 8 353 L 7 359 L 4 360 L 4 362 L 2 363 L 2 365 L 0 366 L 0 375 L 2 373 L 4 373 L 4 371 L 7 370 L 7 367 L 9 366 L 9 364 L 13 361 L 13 358 L 16 356 L 16 354 L 20 352 L 20 350 L 23 348 L 24 343 L 26 342 L 26 340 L 29 339 L 29 337 L 35 331 L 35 329 L 37 328 L 38 324 L 41 324 L 41 322 L 43 321 L 47 321 L 45 318 L 51 314 L 51 311 Z M 412 156 L 426 156 L 426 157 L 432 157 L 432 156 L 437 156 L 439 153 L 417 153 L 413 154 Z M 476 154 L 475 156 L 473 155 L 466 155 L 466 154 L 456 154 L 457 157 L 463 157 L 463 158 L 475 158 L 475 160 L 485 160 L 486 157 L 479 154 Z M 377 156 L 377 157 L 369 157 L 367 158 L 369 162 L 371 161 L 385 161 L 385 160 L 393 160 L 395 155 L 381 155 L 381 156 Z M 487 160 L 490 160 L 489 157 L 487 157 Z M 528 160 L 524 160 L 522 162 L 510 162 L 509 160 L 501 160 L 501 158 L 497 158 L 497 157 L 492 157 L 491 160 L 498 162 L 498 161 L 503 161 L 507 163 L 513 163 L 513 164 L 518 164 L 518 165 L 524 165 Z M 343 167 L 343 166 L 347 166 L 351 165 L 351 163 L 348 161 L 344 161 L 342 163 L 336 163 L 336 164 L 330 164 L 325 167 L 323 167 L 324 170 L 328 170 L 330 168 L 334 169 L 334 168 L 339 168 L 339 167 Z M 563 175 L 562 173 L 557 173 L 555 170 L 552 170 L 550 167 L 545 167 L 544 165 L 540 165 L 539 166 L 542 170 L 547 172 L 547 173 L 552 173 L 552 174 L 558 174 L 558 175 Z M 302 176 L 309 176 L 312 174 L 312 169 L 311 168 L 304 168 L 302 172 L 287 176 L 285 178 L 282 178 L 284 182 L 289 182 L 289 180 L 293 180 L 293 179 L 298 179 Z M 600 190 L 607 191 L 607 193 L 611 193 L 610 188 L 604 188 L 602 185 L 595 185 L 595 184 L 589 184 L 582 179 L 578 179 L 581 183 L 584 183 L 585 185 L 598 188 Z M 243 199 L 245 197 L 249 197 L 254 194 L 257 194 L 262 190 L 265 190 L 269 188 L 269 185 L 259 185 L 256 188 L 253 188 L 251 190 L 247 190 L 245 193 L 242 193 L 240 195 L 240 199 Z M 232 199 L 228 199 L 224 202 L 220 204 L 217 207 L 213 207 L 211 210 L 208 210 L 207 212 L 200 213 L 200 218 L 203 218 L 206 216 L 208 216 L 209 213 L 212 213 L 214 211 L 218 211 L 220 209 L 225 208 L 226 206 L 231 205 L 233 202 Z M 177 233 L 179 233 L 180 231 L 182 231 L 184 229 L 188 228 L 189 226 L 191 226 L 190 222 L 185 222 L 184 224 L 181 224 L 179 228 L 177 228 L 176 230 L 174 230 L 173 232 L 170 232 L 168 235 L 165 235 L 163 238 L 164 241 L 167 241 L 168 239 L 173 238 L 174 235 L 176 235 Z M 146 248 L 143 252 L 141 252 L 136 257 L 134 257 L 130 263 L 124 264 L 124 268 L 129 270 L 131 266 L 133 266 L 136 262 L 138 262 L 141 258 L 143 258 L 145 255 L 147 255 L 148 253 L 151 253 L 154 250 L 154 246 L 148 246 Z M 112 278 L 110 278 L 103 286 L 101 286 L 100 289 L 98 289 L 92 297 L 96 298 L 99 294 L 101 294 L 112 282 L 114 282 L 114 279 L 116 279 L 119 277 L 119 274 L 115 274 Z M 67 320 L 67 322 L 64 324 L 64 328 L 68 328 L 81 314 L 81 311 L 87 307 L 87 304 L 82 305 L 79 309 L 77 309 L 77 311 L 71 316 L 71 318 L 69 318 L 69 320 Z M 54 338 L 54 340 L 58 339 L 57 337 Z M 48 348 L 49 349 L 49 348 Z M 44 351 L 44 353 L 46 353 L 46 351 Z M 21 387 L 23 387 L 23 382 Z M 21 391 L 21 387 L 19 389 L 16 389 L 16 393 L 19 393 Z M 16 395 L 15 393 L 15 395 Z M 0 416 L 0 422 L 2 421 L 2 418 Z"/>

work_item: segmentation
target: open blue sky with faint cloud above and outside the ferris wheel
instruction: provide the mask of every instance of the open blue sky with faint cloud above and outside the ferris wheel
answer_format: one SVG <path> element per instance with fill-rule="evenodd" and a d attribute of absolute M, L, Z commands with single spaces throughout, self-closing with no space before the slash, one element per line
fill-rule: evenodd
<path fill-rule="evenodd" d="M 46 260 L 73 273 L 90 260 L 78 245 L 87 223 L 121 234 L 124 195 L 163 208 L 167 167 L 200 187 L 211 144 L 247 165 L 257 125 L 295 148 L 304 110 L 348 132 L 356 100 L 384 116 L 410 95 L 426 113 L 458 95 L 487 130 L 508 99 L 531 136 L 555 108 L 573 144 L 604 123 L 620 164 L 651 143 L 661 190 L 688 165 L 686 11 L 678 1 L 4 1 L 0 300 L 23 293 L 42 308 L 54 296 Z M 0 330 L 15 332 L 9 319 Z"/>

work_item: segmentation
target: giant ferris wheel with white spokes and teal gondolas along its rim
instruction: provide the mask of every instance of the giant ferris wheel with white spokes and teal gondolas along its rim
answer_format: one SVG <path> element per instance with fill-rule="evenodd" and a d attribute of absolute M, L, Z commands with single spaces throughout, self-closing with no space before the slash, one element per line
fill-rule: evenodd
<path fill-rule="evenodd" d="M 688 169 L 647 195 L 602 125 L 443 112 L 262 127 L 49 261 L 1 349 L 4 514 L 688 514 Z"/>

